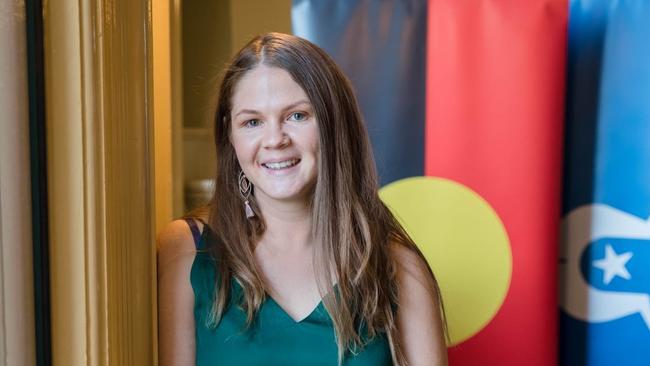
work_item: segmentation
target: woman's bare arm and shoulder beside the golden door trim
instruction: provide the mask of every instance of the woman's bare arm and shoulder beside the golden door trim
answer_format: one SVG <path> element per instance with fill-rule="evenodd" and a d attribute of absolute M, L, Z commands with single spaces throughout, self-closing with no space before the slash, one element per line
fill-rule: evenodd
<path fill-rule="evenodd" d="M 158 235 L 158 363 L 195 364 L 194 292 L 190 271 L 196 249 L 187 223 L 176 220 Z"/>

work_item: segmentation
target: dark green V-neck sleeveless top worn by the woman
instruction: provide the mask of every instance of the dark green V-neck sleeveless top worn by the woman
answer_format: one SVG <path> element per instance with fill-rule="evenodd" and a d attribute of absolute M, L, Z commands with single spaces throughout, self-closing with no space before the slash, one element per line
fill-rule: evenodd
<path fill-rule="evenodd" d="M 189 220 L 188 220 L 189 223 Z M 216 284 L 216 261 L 204 249 L 215 244 L 207 226 L 195 234 L 196 257 L 190 281 L 194 290 L 196 365 L 336 366 L 338 351 L 334 326 L 323 303 L 305 319 L 293 320 L 270 296 L 246 329 L 246 313 L 239 307 L 243 290 L 231 283 L 229 304 L 216 328 L 207 325 Z M 385 334 L 375 337 L 357 355 L 347 355 L 345 366 L 392 365 Z"/>

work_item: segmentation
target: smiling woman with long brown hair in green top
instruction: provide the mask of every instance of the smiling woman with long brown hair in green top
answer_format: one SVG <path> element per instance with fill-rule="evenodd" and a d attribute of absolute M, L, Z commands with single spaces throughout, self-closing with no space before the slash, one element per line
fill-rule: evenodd
<path fill-rule="evenodd" d="M 438 286 L 378 197 L 332 59 L 291 35 L 253 39 L 215 124 L 209 214 L 159 235 L 161 365 L 446 365 Z"/>

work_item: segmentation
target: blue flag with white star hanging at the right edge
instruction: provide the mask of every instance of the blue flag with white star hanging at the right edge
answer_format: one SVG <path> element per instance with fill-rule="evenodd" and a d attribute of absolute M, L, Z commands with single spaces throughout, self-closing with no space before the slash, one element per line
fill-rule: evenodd
<path fill-rule="evenodd" d="M 560 364 L 650 365 L 650 2 L 569 14 Z"/>

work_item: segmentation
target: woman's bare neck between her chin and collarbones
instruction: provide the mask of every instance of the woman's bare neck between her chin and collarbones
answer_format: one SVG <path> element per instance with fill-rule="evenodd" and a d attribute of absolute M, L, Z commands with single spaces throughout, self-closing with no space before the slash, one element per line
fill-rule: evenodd
<path fill-rule="evenodd" d="M 301 250 L 312 245 L 311 210 L 306 201 L 256 198 L 266 222 L 260 244 L 274 252 Z"/>

